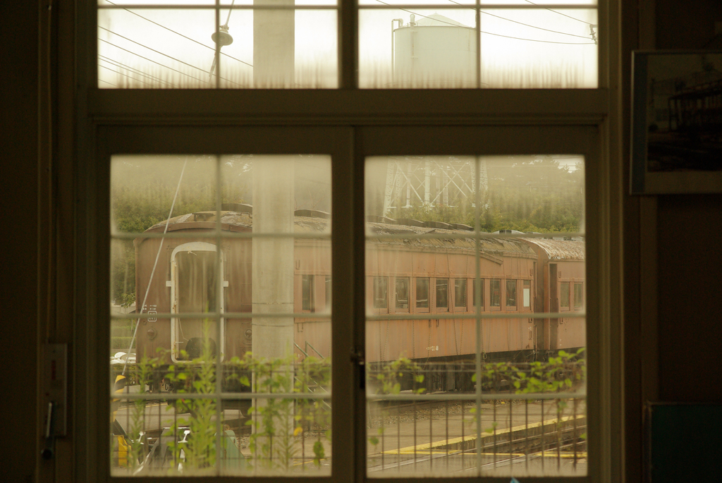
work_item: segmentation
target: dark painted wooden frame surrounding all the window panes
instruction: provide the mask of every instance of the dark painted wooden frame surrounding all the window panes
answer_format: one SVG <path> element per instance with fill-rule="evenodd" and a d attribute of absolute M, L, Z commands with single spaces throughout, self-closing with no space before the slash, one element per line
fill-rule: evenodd
<path fill-rule="evenodd" d="M 622 60 L 619 0 L 599 0 L 599 88 L 594 90 L 357 90 L 357 10 L 342 0 L 339 14 L 339 90 L 98 90 L 95 80 L 95 4 L 79 1 L 74 25 L 74 140 L 77 199 L 77 316 L 74 320 L 75 402 L 72 406 L 74 479 L 109 477 L 108 256 L 110 156 L 193 152 L 294 154 L 305 146 L 334 156 L 332 232 L 332 375 L 334 464 L 329 483 L 363 483 L 365 397 L 358 363 L 363 354 L 363 160 L 377 155 L 449 154 L 449 129 L 478 149 L 460 155 L 563 152 L 562 131 L 593 131 L 586 170 L 588 255 L 588 476 L 544 481 L 615 482 L 624 474 L 622 378 Z M 64 20 L 68 22 L 67 19 Z M 64 27 L 68 27 L 64 24 Z M 69 47 L 69 42 L 63 43 Z M 449 127 L 451 126 L 451 128 Z M 399 131 L 426 134 L 398 145 Z M 554 131 L 553 136 L 548 136 Z M 515 134 L 516 133 L 516 134 Z M 190 135 L 189 135 L 190 134 Z M 272 136 L 271 136 L 272 135 Z M 264 137 L 265 136 L 265 137 Z M 269 137 L 271 136 L 271 137 Z M 275 136 L 275 137 L 274 137 Z M 284 146 L 271 139 L 283 136 Z M 529 137 L 527 137 L 529 136 Z M 453 136 L 452 136 L 453 137 Z M 311 141 L 309 142 L 309 138 Z M 533 139 L 532 139 L 533 138 Z M 532 148 L 529 144 L 534 142 Z M 397 144 L 393 147 L 393 144 Z M 504 144 L 504 143 L 502 143 Z M 243 147 L 243 150 L 240 149 Z M 409 149 L 412 147 L 412 149 Z M 466 149 L 466 148 L 465 148 Z M 570 150 L 572 151 L 572 150 Z M 344 215 L 344 216 L 339 216 Z M 348 321 L 348 322 L 347 322 Z M 347 354 L 347 355 L 344 355 Z M 602 402 L 603 401 L 603 402 Z M 349 424 L 351 422 L 351 424 Z M 349 443 L 350 442 L 350 443 Z M 176 481 L 144 479 L 143 481 Z M 289 482 L 293 477 L 269 477 Z M 425 482 L 427 479 L 409 479 Z M 508 478 L 504 480 L 508 481 Z M 541 479 L 534 479 L 540 481 Z M 380 480 L 378 480 L 380 481 Z M 489 481 L 501 481 L 489 479 Z"/>

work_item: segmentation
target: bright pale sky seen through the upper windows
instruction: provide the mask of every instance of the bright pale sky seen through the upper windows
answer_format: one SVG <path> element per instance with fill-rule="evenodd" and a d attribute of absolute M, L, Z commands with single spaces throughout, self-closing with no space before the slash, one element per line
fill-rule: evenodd
<path fill-rule="evenodd" d="M 408 29 L 413 13 L 419 22 L 425 16 L 440 14 L 463 25 L 474 27 L 473 4 L 455 0 L 417 1 L 403 9 L 364 8 L 399 4 L 400 0 L 361 0 L 359 14 L 360 84 L 362 87 L 391 87 L 392 20 L 402 19 Z M 115 1 L 113 4 L 142 4 L 142 1 Z M 145 2 L 149 4 L 149 2 Z M 551 2 L 549 2 L 551 3 Z M 127 87 L 123 82 L 139 79 L 136 87 L 213 87 L 209 71 L 213 63 L 215 31 L 214 9 L 191 8 L 213 5 L 211 0 L 163 1 L 152 5 L 181 5 L 183 9 L 99 9 L 98 53 L 99 87 Z M 230 5 L 222 1 L 222 5 Z M 232 45 L 222 48 L 221 77 L 227 87 L 250 87 L 253 79 L 252 0 L 235 1 L 228 19 Z M 298 9 L 295 12 L 295 83 L 298 87 L 336 87 L 337 14 L 332 0 L 299 0 L 296 6 L 326 6 L 326 9 Z M 406 2 L 404 2 L 406 4 Z M 488 2 L 482 2 L 488 4 Z M 495 5 L 530 6 L 528 0 L 494 1 Z M 544 1 L 534 1 L 544 4 Z M 580 6 L 573 9 L 484 9 L 481 14 L 481 61 L 483 87 L 596 87 L 597 45 L 590 34 L 596 25 L 593 2 L 557 0 L 554 5 Z M 100 0 L 100 5 L 110 1 Z M 590 8 L 584 8 L 585 6 Z M 331 6 L 332 8 L 328 8 Z M 229 10 L 219 11 L 225 24 Z M 398 23 L 394 22 L 394 27 Z M 448 58 L 440 30 L 464 30 L 463 27 L 416 27 L 417 62 L 434 56 Z M 595 32 L 598 29 L 594 29 Z M 408 30 L 406 30 L 408 31 Z M 473 32 L 469 42 L 454 43 L 453 48 L 476 49 Z M 464 35 L 461 35 L 464 37 Z M 423 51 L 427 45 L 441 45 L 438 52 Z M 398 40 L 397 40 L 398 41 Z M 397 45 L 398 47 L 398 45 Z M 473 53 L 471 54 L 473 58 Z M 397 64 L 398 65 L 398 64 Z M 469 69 L 474 71 L 474 66 Z M 118 71 L 121 74 L 118 74 Z M 398 79 L 397 79 L 398 80 Z"/>

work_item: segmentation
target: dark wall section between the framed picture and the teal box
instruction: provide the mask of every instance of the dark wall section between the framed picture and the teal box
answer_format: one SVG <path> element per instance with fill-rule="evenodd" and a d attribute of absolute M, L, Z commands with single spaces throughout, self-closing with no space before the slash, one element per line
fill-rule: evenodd
<path fill-rule="evenodd" d="M 658 199 L 661 401 L 722 399 L 722 196 Z"/>

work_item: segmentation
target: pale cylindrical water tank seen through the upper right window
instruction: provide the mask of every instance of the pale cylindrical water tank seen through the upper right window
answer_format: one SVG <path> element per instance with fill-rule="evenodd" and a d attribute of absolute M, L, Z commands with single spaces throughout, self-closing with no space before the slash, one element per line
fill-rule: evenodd
<path fill-rule="evenodd" d="M 476 87 L 476 31 L 431 14 L 393 30 L 394 87 Z"/>

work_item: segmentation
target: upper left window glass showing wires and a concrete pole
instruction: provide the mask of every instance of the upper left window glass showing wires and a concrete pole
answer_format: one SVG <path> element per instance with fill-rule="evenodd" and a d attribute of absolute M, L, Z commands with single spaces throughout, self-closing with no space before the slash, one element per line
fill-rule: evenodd
<path fill-rule="evenodd" d="M 263 9 L 258 2 L 238 2 L 233 9 L 182 4 L 126 9 L 102 1 L 98 87 L 337 87 L 334 3 L 305 3 L 326 9 L 293 9 L 287 0 L 268 0 Z"/>

